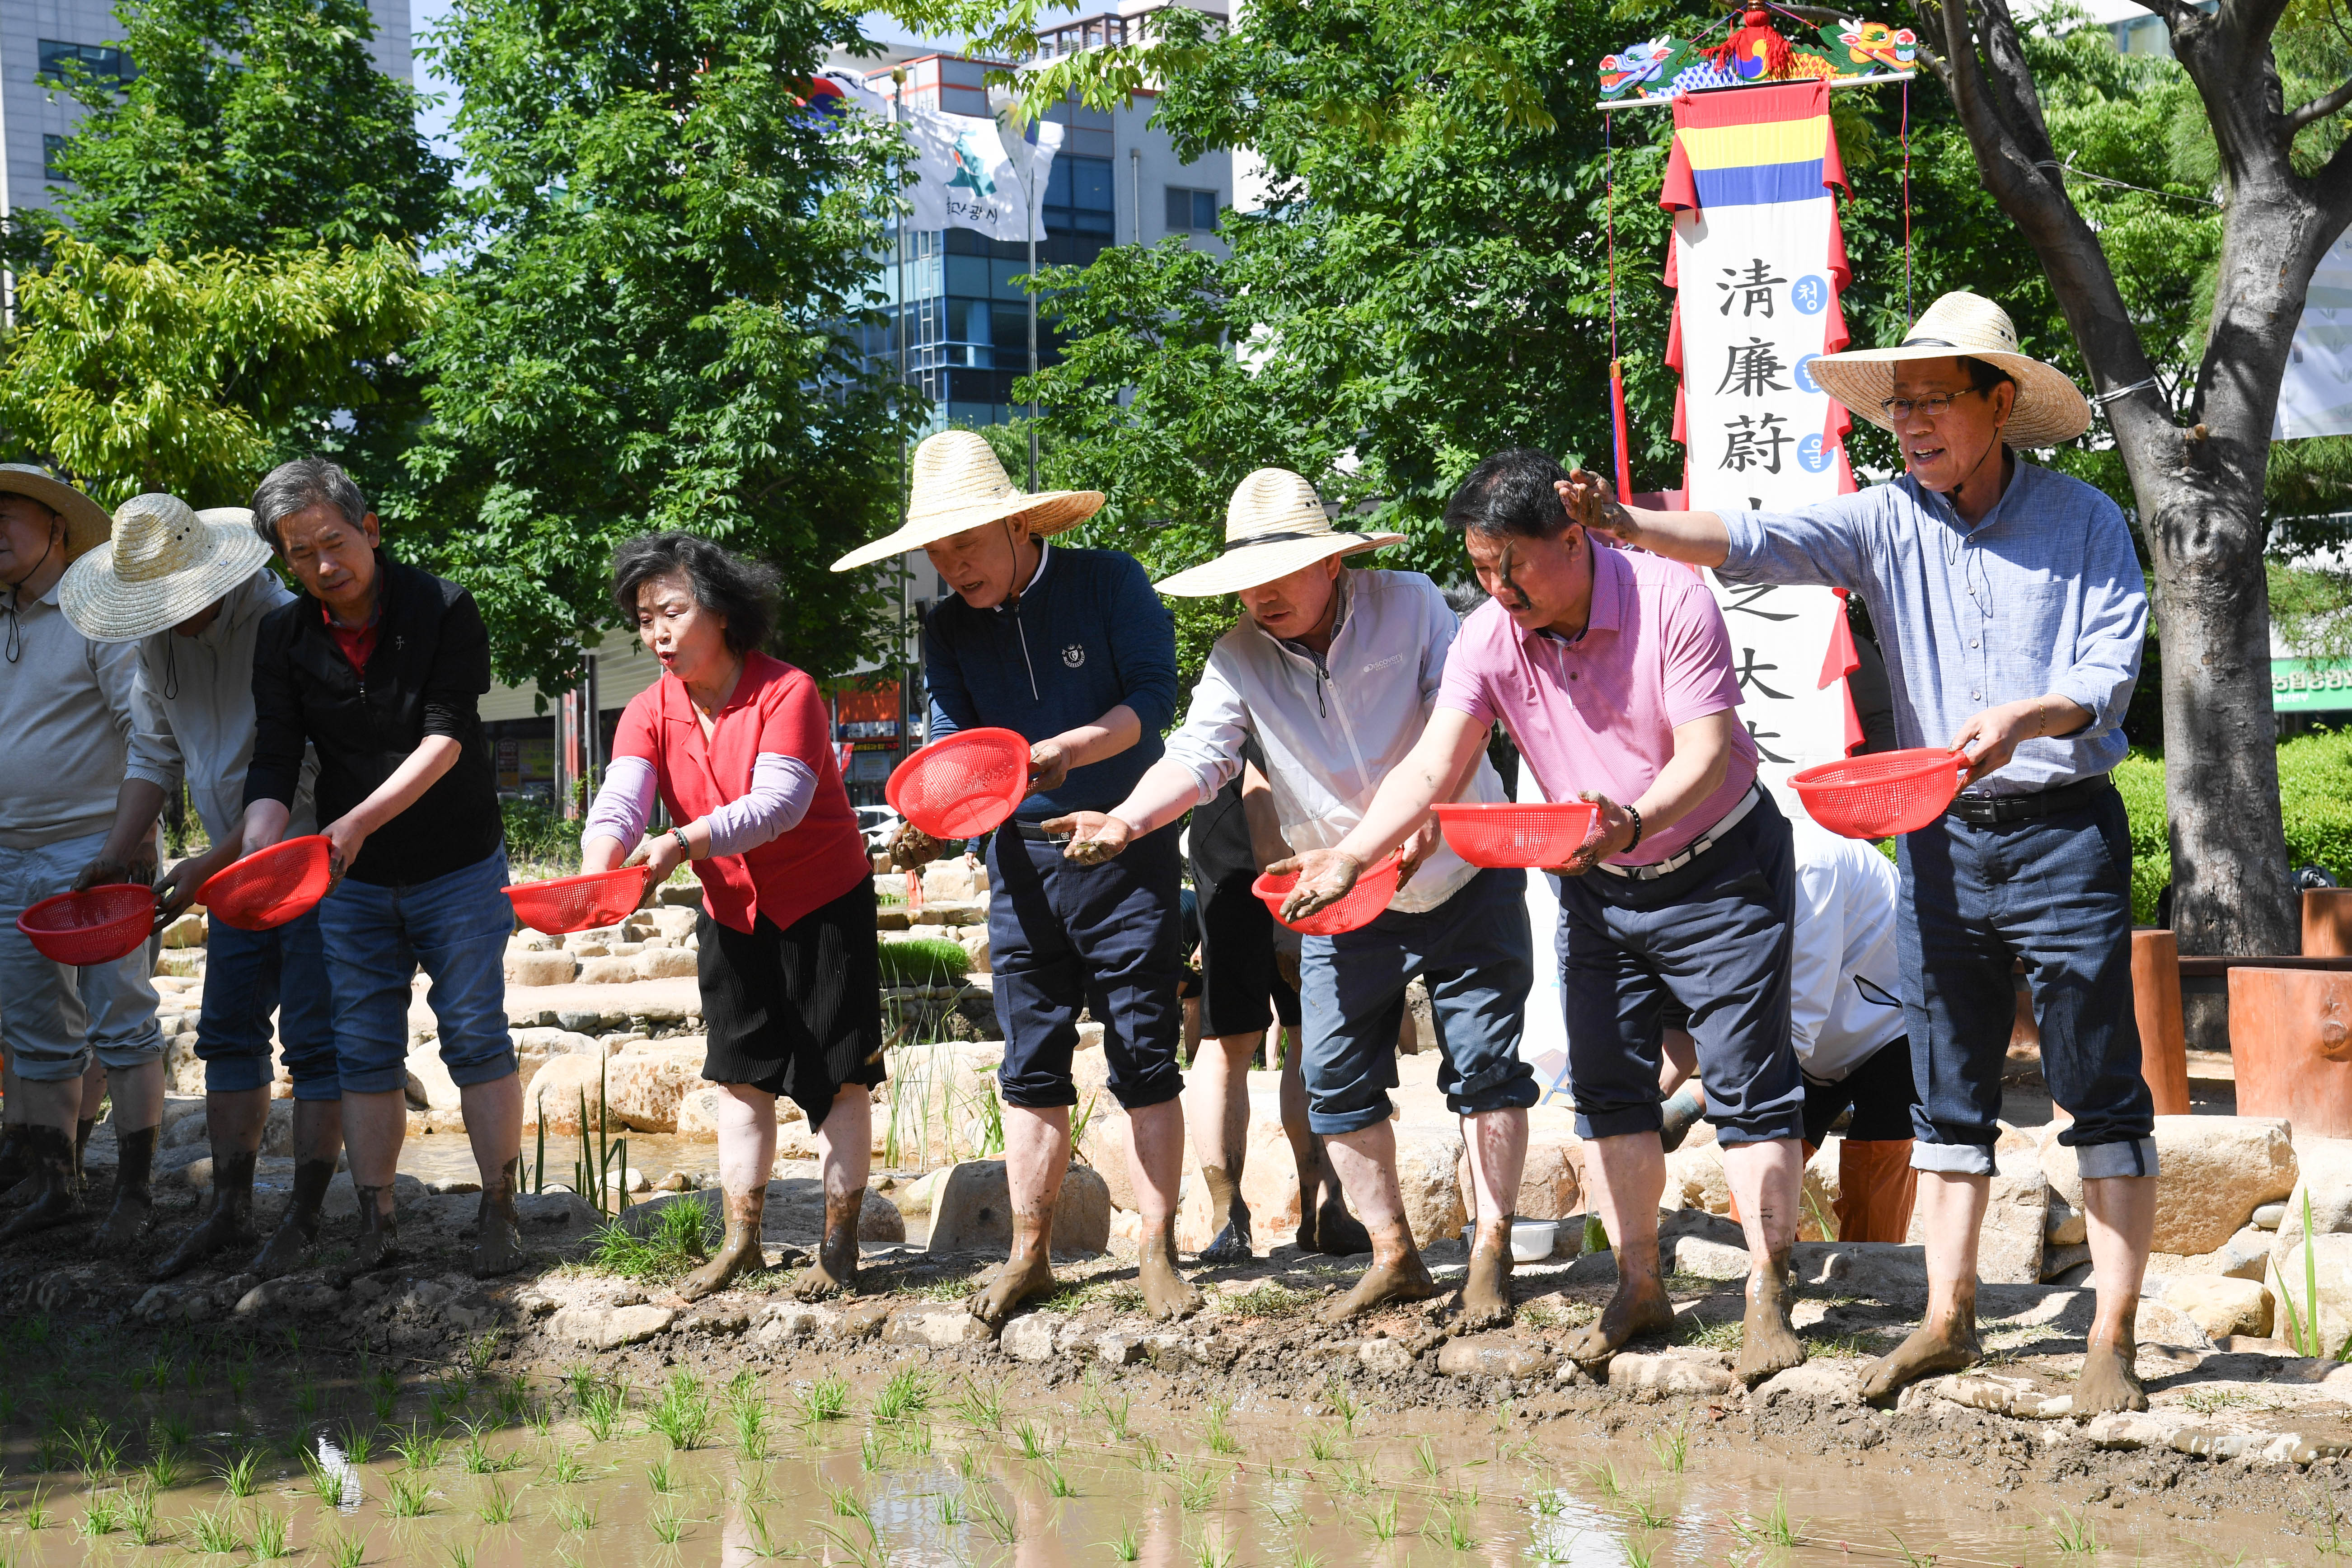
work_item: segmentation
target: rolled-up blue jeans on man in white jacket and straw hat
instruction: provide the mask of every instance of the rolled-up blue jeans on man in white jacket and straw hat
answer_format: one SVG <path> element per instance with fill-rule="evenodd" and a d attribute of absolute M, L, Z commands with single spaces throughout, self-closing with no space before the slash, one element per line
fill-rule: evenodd
<path fill-rule="evenodd" d="M 1383 910 L 1369 926 L 1298 943 L 1298 1070 L 1308 1128 L 1357 1133 L 1388 1121 L 1397 1086 L 1404 987 L 1421 976 L 1444 1063 L 1437 1088 L 1456 1117 L 1534 1105 L 1543 1093 L 1519 1060 L 1536 943 L 1526 931 L 1526 872 L 1484 870 L 1435 910 Z"/>

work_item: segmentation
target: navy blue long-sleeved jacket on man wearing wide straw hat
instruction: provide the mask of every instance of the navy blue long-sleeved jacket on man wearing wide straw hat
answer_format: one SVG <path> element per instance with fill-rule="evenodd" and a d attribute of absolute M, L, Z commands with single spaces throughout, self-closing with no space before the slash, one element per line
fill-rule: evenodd
<path fill-rule="evenodd" d="M 1143 719 L 1136 745 L 1021 802 L 1025 823 L 1117 806 L 1160 762 L 1160 731 L 1176 717 L 1176 618 L 1117 550 L 1044 545 L 1016 604 L 971 609 L 948 595 L 924 616 L 922 651 L 931 741 L 981 726 L 1047 741 L 1120 703 Z"/>

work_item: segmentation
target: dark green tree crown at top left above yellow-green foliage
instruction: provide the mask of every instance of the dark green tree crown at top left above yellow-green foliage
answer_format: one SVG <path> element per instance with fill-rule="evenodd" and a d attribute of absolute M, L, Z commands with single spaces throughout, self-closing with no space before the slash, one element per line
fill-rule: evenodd
<path fill-rule="evenodd" d="M 452 167 L 416 132 L 421 96 L 376 71 L 365 0 L 125 5 L 125 87 L 71 66 L 82 106 L 56 155 L 64 214 L 127 259 L 308 252 L 430 237 Z"/>

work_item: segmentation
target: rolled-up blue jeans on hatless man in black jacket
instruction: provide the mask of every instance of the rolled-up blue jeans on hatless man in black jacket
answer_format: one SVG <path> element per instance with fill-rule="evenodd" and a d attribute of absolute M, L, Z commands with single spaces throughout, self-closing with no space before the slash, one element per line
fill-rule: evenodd
<path fill-rule="evenodd" d="M 318 905 L 334 990 L 334 1053 L 343 1093 L 390 1093 L 409 1081 L 409 980 L 423 966 L 440 1025 L 440 1058 L 459 1088 L 515 1072 L 506 1030 L 506 849 L 466 870 L 379 886 L 343 877 Z"/>

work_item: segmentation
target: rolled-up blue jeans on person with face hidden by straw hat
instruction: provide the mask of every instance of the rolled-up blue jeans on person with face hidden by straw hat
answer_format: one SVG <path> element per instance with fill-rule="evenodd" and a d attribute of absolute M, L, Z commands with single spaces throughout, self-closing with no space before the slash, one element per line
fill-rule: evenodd
<path fill-rule="evenodd" d="M 270 1013 L 278 1013 L 278 1048 L 294 1074 L 294 1098 L 339 1100 L 343 1084 L 334 1053 L 334 992 L 327 985 L 318 910 L 273 931 L 240 931 L 226 919 L 207 917 L 205 1011 L 195 1023 L 205 1093 L 268 1086 L 275 1077 Z"/>

